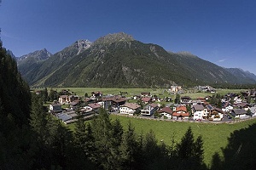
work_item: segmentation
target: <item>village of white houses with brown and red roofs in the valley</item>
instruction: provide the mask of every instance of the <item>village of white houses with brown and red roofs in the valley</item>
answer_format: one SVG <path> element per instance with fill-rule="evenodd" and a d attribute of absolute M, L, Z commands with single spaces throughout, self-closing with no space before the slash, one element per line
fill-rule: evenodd
<path fill-rule="evenodd" d="M 59 95 L 58 99 L 49 105 L 49 112 L 66 124 L 76 122 L 78 116 L 90 119 L 97 115 L 100 108 L 105 109 L 109 114 L 166 121 L 233 122 L 256 116 L 256 105 L 253 103 L 255 89 L 241 94 L 225 94 L 211 104 L 212 96 L 215 94 L 214 88 L 209 86 L 196 88 L 209 95 L 191 99 L 189 96 L 181 95 L 183 94 L 181 87 L 172 86 L 168 90 L 176 96 L 176 99 L 168 97 L 160 99 L 150 92 L 126 97 L 126 92 L 102 94 L 100 91 L 91 92 L 90 95 L 81 98 L 63 89 L 61 90 L 63 95 Z"/>

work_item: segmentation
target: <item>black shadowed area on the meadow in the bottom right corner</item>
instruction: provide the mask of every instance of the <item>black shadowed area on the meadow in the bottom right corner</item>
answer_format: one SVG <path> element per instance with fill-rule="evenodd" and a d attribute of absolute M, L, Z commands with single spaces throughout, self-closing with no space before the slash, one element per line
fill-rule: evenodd
<path fill-rule="evenodd" d="M 256 123 L 231 133 L 228 142 L 223 158 L 218 153 L 212 156 L 212 170 L 256 169 Z"/>

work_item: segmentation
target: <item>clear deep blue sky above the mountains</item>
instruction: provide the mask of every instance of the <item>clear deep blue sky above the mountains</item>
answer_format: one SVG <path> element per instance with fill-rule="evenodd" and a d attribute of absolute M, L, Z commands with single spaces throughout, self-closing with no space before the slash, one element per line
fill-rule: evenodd
<path fill-rule="evenodd" d="M 255 0 L 2 0 L 0 27 L 3 46 L 18 57 L 123 31 L 256 74 Z"/>

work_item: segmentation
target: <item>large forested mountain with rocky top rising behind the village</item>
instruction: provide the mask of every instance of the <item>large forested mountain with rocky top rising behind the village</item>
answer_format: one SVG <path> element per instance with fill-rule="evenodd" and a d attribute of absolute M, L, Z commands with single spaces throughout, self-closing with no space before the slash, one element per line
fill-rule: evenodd
<path fill-rule="evenodd" d="M 187 86 L 256 82 L 235 77 L 193 54 L 166 52 L 159 45 L 139 42 L 124 32 L 95 42 L 74 42 L 21 74 L 32 86 L 48 87 L 166 88 L 174 82 Z"/>

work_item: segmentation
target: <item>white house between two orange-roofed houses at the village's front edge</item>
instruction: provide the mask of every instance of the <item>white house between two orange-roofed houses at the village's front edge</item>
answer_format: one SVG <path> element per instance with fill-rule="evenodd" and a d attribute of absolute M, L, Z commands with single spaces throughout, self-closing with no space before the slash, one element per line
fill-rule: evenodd
<path fill-rule="evenodd" d="M 208 111 L 202 104 L 195 104 L 192 107 L 192 115 L 194 120 L 207 119 Z"/>

